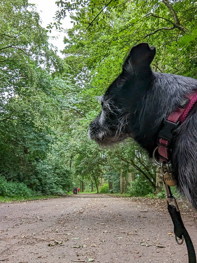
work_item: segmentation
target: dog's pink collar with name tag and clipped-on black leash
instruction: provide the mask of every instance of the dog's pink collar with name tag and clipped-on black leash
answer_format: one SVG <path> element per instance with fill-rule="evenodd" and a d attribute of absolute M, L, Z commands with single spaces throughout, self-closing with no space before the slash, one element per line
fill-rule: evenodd
<path fill-rule="evenodd" d="M 173 131 L 178 128 L 178 126 L 183 123 L 188 116 L 190 110 L 197 102 L 197 91 L 194 91 L 192 94 L 186 96 L 186 98 L 182 101 L 179 108 L 171 112 L 171 114 L 167 117 L 166 120 L 163 121 L 163 127 L 159 132 L 157 147 L 153 152 L 153 159 L 156 164 L 161 165 L 162 176 L 164 187 L 166 191 L 166 200 L 168 206 L 168 212 L 171 216 L 173 225 L 174 225 L 174 234 L 176 242 L 179 245 L 182 245 L 184 239 L 187 246 L 188 251 L 188 262 L 196 263 L 195 250 L 193 247 L 193 243 L 191 238 L 184 226 L 183 220 L 181 218 L 181 214 L 179 211 L 179 206 L 176 203 L 175 198 L 172 196 L 170 186 L 176 185 L 175 178 L 170 171 L 170 159 L 171 159 L 171 148 L 170 144 L 173 139 Z M 157 158 L 155 157 L 156 152 L 159 154 Z M 159 161 L 158 161 L 159 160 Z M 170 183 L 169 183 L 169 181 Z M 170 204 L 169 202 L 173 202 L 174 204 Z M 178 238 L 181 239 L 181 242 L 178 241 Z"/>

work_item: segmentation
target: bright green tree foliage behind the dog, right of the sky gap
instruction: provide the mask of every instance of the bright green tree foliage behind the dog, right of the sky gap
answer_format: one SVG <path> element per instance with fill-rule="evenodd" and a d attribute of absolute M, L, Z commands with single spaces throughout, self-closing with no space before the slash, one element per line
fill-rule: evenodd
<path fill-rule="evenodd" d="M 72 124 L 73 144 L 77 145 L 76 154 L 72 155 L 75 174 L 82 173 L 84 178 L 95 178 L 96 175 L 97 179 L 107 175 L 105 180 L 114 187 L 121 174 L 128 185 L 128 174 L 137 173 L 139 176 L 132 182 L 131 194 L 153 193 L 155 165 L 139 145 L 128 140 L 113 149 L 98 149 L 84 140 L 82 130 L 100 111 L 94 97 L 105 92 L 121 71 L 131 46 L 139 42 L 156 46 L 157 54 L 152 63 L 155 71 L 197 76 L 196 3 L 77 0 L 58 1 L 57 5 L 60 9 L 56 14 L 56 25 L 67 11 L 72 18 L 73 28 L 67 30 L 65 38 L 65 61 L 70 65 L 72 80 L 83 83 L 81 102 L 88 101 L 87 107 L 75 105 L 80 115 L 83 112 L 83 116 L 78 116 L 81 123 Z M 112 168 L 116 172 L 114 177 L 108 176 Z"/>

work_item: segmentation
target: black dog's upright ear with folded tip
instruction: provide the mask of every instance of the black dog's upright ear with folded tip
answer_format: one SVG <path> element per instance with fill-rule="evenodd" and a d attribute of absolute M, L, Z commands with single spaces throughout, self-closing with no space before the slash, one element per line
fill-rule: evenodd
<path fill-rule="evenodd" d="M 148 43 L 140 43 L 134 46 L 123 65 L 123 70 L 132 71 L 133 69 L 149 67 L 154 59 L 155 52 L 155 47 L 149 47 Z"/>

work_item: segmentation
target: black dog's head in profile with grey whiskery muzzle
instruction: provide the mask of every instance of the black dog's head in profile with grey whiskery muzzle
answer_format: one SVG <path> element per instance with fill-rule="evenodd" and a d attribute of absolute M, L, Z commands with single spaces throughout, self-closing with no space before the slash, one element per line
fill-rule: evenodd
<path fill-rule="evenodd" d="M 151 85 L 150 63 L 154 55 L 155 47 L 147 43 L 131 49 L 122 73 L 100 97 L 102 111 L 88 129 L 91 139 L 108 145 L 135 137 L 137 111 L 143 107 L 142 98 Z"/>

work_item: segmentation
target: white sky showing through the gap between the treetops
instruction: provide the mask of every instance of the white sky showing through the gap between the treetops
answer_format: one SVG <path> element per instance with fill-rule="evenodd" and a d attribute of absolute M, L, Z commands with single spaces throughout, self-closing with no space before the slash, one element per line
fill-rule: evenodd
<path fill-rule="evenodd" d="M 35 4 L 38 13 L 41 16 L 42 20 L 42 27 L 47 27 L 48 24 L 51 22 L 53 23 L 53 17 L 55 16 L 55 11 L 57 10 L 57 6 L 55 4 L 56 0 L 29 0 L 29 3 Z M 61 21 L 62 27 L 64 29 L 72 28 L 72 24 L 70 23 L 70 17 L 66 16 L 64 20 Z M 55 36 L 55 39 L 50 38 L 50 43 L 52 43 L 54 46 L 58 48 L 58 51 L 63 50 L 65 45 L 63 43 L 64 36 L 66 33 L 64 32 L 57 32 L 55 29 L 51 31 L 51 33 L 48 32 L 49 36 Z M 63 57 L 62 53 L 58 52 L 58 55 L 60 57 Z"/>

